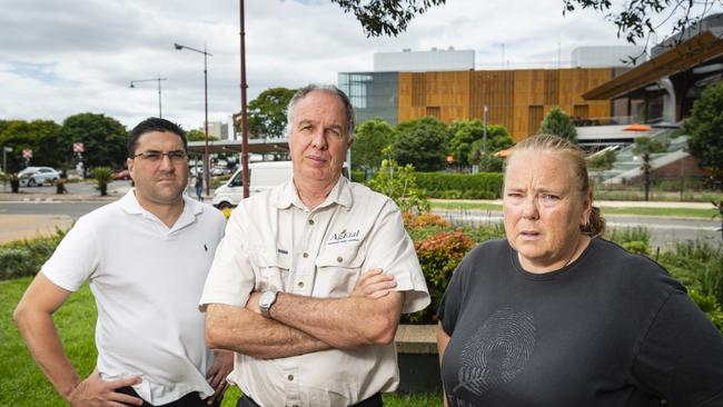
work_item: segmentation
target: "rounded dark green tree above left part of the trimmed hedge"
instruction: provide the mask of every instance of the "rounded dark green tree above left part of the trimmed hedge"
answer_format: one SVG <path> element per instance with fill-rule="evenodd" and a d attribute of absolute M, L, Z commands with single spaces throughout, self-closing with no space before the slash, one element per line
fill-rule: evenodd
<path fill-rule="evenodd" d="M 419 171 L 444 168 L 447 158 L 447 125 L 424 117 L 397 125 L 395 132 L 392 158 L 400 166 L 410 163 Z"/>

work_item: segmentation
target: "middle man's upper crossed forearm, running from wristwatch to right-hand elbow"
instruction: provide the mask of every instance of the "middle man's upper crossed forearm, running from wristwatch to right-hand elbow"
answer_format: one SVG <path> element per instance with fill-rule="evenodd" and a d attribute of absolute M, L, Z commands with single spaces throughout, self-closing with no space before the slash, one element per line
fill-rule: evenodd
<path fill-rule="evenodd" d="M 318 338 L 331 347 L 353 349 L 394 340 L 404 294 L 367 297 L 311 298 L 279 292 L 271 318 Z"/>

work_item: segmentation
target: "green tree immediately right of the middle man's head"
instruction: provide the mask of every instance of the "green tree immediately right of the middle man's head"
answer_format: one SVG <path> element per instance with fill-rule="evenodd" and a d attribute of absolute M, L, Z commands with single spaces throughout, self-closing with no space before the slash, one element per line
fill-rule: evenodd
<path fill-rule="evenodd" d="M 351 145 L 355 168 L 377 169 L 382 165 L 382 150 L 394 140 L 394 129 L 382 119 L 367 120 L 356 127 Z"/>

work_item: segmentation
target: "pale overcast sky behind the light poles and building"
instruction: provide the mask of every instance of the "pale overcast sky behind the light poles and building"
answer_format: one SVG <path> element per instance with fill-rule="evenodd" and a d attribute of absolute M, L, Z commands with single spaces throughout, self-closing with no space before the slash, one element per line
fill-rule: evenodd
<path fill-rule="evenodd" d="M 0 0 L 0 119 L 105 113 L 128 128 L 158 115 L 186 129 L 204 120 L 204 56 L 209 120 L 240 110 L 238 1 Z M 379 51 L 474 49 L 477 69 L 563 66 L 581 46 L 626 44 L 594 12 L 563 17 L 562 0 L 447 0 L 397 38 L 367 38 L 354 16 L 328 0 L 247 0 L 248 100 L 273 87 L 336 83 L 339 71 L 373 69 Z"/>

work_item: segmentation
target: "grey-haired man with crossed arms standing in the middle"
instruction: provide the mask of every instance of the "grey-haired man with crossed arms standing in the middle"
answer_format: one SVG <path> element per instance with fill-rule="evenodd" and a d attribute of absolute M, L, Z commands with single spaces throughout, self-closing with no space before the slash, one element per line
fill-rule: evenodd
<path fill-rule="evenodd" d="M 429 296 L 397 206 L 341 177 L 353 131 L 344 92 L 300 89 L 293 179 L 231 215 L 200 304 L 208 345 L 237 353 L 237 406 L 380 406 L 398 385 L 399 315 Z"/>

